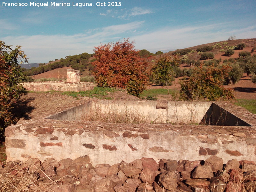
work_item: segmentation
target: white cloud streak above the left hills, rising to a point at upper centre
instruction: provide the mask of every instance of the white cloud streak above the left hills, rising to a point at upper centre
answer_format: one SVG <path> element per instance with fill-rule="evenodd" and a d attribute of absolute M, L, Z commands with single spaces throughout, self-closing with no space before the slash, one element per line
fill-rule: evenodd
<path fill-rule="evenodd" d="M 93 53 L 94 46 L 122 39 L 125 37 L 122 33 L 134 31 L 140 28 L 143 23 L 144 21 L 135 21 L 122 25 L 112 25 L 71 36 L 59 34 L 7 36 L 3 38 L 0 36 L 0 38 L 7 45 L 21 45 L 22 50 L 30 59 L 30 63 L 47 62 L 56 58 L 65 58 L 67 55 L 83 52 Z"/>

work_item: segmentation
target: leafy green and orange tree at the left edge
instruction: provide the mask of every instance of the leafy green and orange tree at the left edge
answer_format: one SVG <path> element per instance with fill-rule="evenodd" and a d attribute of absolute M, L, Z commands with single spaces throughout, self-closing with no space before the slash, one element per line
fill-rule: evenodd
<path fill-rule="evenodd" d="M 26 93 L 21 84 L 26 76 L 19 63 L 28 63 L 28 60 L 20 48 L 12 49 L 12 45 L 0 41 L 0 136 L 4 135 L 4 128 L 16 120 L 11 112 L 11 100 Z"/>

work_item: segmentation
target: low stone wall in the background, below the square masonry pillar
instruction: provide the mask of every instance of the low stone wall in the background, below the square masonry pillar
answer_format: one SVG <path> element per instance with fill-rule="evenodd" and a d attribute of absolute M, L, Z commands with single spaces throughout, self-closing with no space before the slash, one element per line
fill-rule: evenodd
<path fill-rule="evenodd" d="M 94 84 L 90 82 L 68 83 L 60 81 L 47 82 L 28 82 L 23 83 L 24 88 L 28 91 L 87 91 L 94 88 Z"/>

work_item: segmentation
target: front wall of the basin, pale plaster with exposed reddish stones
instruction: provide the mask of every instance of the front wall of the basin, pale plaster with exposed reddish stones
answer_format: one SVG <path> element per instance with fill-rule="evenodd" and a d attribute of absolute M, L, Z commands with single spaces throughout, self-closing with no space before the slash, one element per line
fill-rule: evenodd
<path fill-rule="evenodd" d="M 20 120 L 5 129 L 8 161 L 30 157 L 76 159 L 93 165 L 131 162 L 141 157 L 186 159 L 219 156 L 224 162 L 256 159 L 253 127 L 171 124 L 109 124 L 51 119 Z"/>

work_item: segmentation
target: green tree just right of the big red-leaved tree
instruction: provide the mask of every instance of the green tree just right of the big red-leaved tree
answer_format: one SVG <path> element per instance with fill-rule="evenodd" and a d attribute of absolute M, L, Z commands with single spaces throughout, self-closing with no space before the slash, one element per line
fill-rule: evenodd
<path fill-rule="evenodd" d="M 177 56 L 160 57 L 156 60 L 155 66 L 152 68 L 155 83 L 157 85 L 171 85 L 175 78 L 174 67 L 179 66 Z"/>

